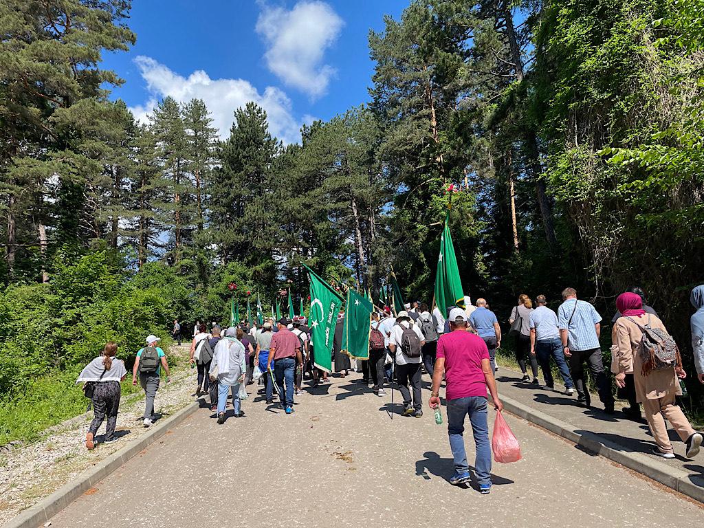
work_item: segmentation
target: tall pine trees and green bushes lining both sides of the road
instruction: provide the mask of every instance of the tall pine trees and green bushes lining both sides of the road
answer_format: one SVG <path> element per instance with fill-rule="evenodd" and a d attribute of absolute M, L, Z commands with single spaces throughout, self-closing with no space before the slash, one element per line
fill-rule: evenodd
<path fill-rule="evenodd" d="M 301 262 L 431 301 L 450 200 L 465 291 L 502 320 L 568 285 L 610 319 L 639 284 L 691 366 L 704 0 L 412 0 L 369 36 L 370 103 L 291 145 L 254 103 L 222 142 L 198 100 L 135 123 L 99 68 L 129 9 L 0 0 L 4 409 L 107 339 L 129 357 L 172 318 L 226 320 L 229 282 L 298 306 Z"/>

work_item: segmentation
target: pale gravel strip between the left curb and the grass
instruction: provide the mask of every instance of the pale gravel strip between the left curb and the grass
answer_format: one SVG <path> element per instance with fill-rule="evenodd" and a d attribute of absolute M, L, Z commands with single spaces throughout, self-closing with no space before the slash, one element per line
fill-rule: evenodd
<path fill-rule="evenodd" d="M 174 346 L 170 355 L 188 357 L 188 346 Z M 187 361 L 171 371 L 171 383 L 162 378 L 156 393 L 155 413 L 162 419 L 194 401 L 196 370 Z M 125 382 L 130 383 L 128 374 Z M 40 441 L 0 452 L 0 527 L 23 510 L 51 495 L 78 474 L 96 465 L 127 442 L 142 436 L 148 429 L 142 425 L 144 392 L 123 397 L 113 444 L 102 444 L 105 422 L 98 431 L 99 445 L 93 451 L 85 448 L 85 436 L 93 419 L 92 410 L 47 429 Z"/>

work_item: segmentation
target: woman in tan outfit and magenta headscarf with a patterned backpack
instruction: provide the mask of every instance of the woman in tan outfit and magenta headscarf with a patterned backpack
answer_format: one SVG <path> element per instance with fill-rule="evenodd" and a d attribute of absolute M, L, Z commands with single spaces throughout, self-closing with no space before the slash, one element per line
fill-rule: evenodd
<path fill-rule="evenodd" d="M 678 378 L 686 377 L 681 360 L 678 357 L 677 365 L 670 369 L 651 370 L 646 375 L 642 372 L 643 361 L 639 353 L 643 337 L 641 328 L 650 325 L 654 329 L 659 328 L 667 332 L 665 325 L 655 315 L 643 310 L 643 301 L 636 294 L 621 294 L 616 299 L 616 306 L 622 315 L 616 321 L 611 333 L 612 343 L 617 347 L 619 365 L 619 372 L 616 375 L 617 385 L 625 386 L 626 372 L 631 370 L 632 364 L 636 399 L 643 404 L 650 432 L 653 434 L 655 444 L 658 444 L 653 453 L 665 458 L 674 458 L 674 450 L 665 425 L 665 418 L 667 418 L 686 444 L 687 458 L 693 458 L 699 453 L 703 438 L 692 429 L 689 420 L 674 402 L 674 397 L 682 394 Z"/>

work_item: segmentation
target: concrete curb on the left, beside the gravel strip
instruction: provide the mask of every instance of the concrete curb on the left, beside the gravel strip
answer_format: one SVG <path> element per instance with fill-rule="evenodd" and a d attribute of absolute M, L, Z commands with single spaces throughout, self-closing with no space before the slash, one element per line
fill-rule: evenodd
<path fill-rule="evenodd" d="M 149 432 L 143 434 L 137 439 L 132 440 L 120 451 L 115 451 L 105 460 L 97 463 L 89 470 L 84 471 L 73 481 L 68 482 L 61 488 L 54 491 L 53 494 L 39 501 L 31 508 L 27 508 L 20 515 L 11 519 L 4 524 L 3 528 L 37 528 L 45 522 L 51 520 L 63 508 L 79 498 L 86 491 L 94 487 L 98 482 L 107 477 L 118 467 L 122 466 L 127 460 L 130 460 L 134 455 L 139 454 L 144 448 L 149 447 L 157 439 L 161 438 L 170 427 L 183 422 L 187 417 L 192 415 L 200 408 L 198 402 L 191 403 L 189 406 L 182 408 L 175 415 L 172 415 L 163 422 L 152 427 Z"/>

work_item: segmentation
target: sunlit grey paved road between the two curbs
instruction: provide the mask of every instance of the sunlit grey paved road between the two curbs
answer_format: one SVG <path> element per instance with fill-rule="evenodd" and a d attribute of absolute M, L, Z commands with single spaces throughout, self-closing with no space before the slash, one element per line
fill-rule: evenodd
<path fill-rule="evenodd" d="M 422 418 L 395 415 L 391 421 L 389 396 L 379 398 L 350 377 L 315 393 L 298 396 L 293 415 L 250 397 L 246 417 L 225 425 L 199 410 L 56 515 L 52 527 L 642 528 L 704 522 L 702 506 L 512 415 L 507 420 L 524 459 L 494 463 L 489 496 L 453 487 L 446 425 L 435 425 L 427 407 Z M 471 434 L 465 438 L 471 463 Z"/>

